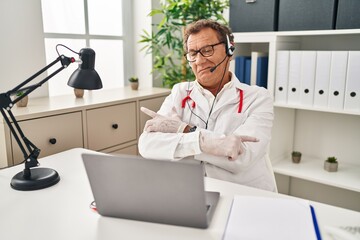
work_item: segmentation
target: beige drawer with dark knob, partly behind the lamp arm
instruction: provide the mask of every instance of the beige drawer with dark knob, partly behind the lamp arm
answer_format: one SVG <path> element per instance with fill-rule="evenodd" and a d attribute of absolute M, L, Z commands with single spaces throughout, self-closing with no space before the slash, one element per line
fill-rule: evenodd
<path fill-rule="evenodd" d="M 40 148 L 40 157 L 84 147 L 81 112 L 19 121 L 19 125 L 25 136 Z M 13 162 L 20 163 L 24 156 L 13 136 L 11 142 Z"/>

